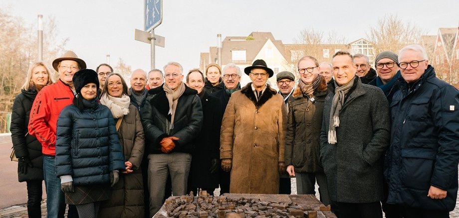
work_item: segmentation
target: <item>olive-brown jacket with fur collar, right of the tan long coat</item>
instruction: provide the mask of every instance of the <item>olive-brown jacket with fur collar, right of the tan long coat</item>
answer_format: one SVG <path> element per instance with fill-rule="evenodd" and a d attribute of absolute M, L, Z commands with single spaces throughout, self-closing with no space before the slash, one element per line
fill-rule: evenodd
<path fill-rule="evenodd" d="M 312 98 L 297 87 L 288 103 L 285 165 L 293 165 L 298 173 L 323 173 L 319 163 L 320 130 L 325 97 L 330 91 L 325 79 Z"/>

